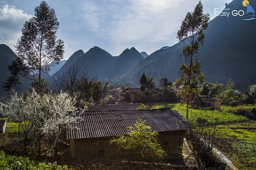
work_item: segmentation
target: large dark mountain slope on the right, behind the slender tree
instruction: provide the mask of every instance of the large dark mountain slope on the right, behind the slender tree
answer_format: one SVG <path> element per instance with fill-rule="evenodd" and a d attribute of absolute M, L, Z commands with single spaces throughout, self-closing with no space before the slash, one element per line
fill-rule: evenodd
<path fill-rule="evenodd" d="M 250 1 L 250 5 L 256 9 L 256 1 Z M 243 17 L 231 14 L 233 10 L 243 10 L 245 14 L 246 7 L 241 0 L 233 0 L 226 8 L 229 8 L 229 17 L 217 16 L 209 22 L 204 31 L 204 46 L 199 48 L 197 57 L 206 82 L 225 84 L 231 78 L 240 88 L 248 89 L 249 82 L 256 83 L 256 20 L 242 20 Z M 180 75 L 180 65 L 185 63 L 184 59 L 180 60 L 183 46 L 183 42 L 178 42 L 172 47 L 155 51 L 140 61 L 120 82 L 124 79 L 133 82 L 137 74 L 142 75 L 143 72 L 147 76 L 157 74 L 158 77 L 167 77 L 174 82 Z"/>

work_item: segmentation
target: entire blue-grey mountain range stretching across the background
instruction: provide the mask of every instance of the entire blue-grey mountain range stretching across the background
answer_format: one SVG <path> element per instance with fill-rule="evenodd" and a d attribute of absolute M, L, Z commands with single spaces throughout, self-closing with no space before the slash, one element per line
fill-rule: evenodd
<path fill-rule="evenodd" d="M 256 1 L 251 1 L 250 5 L 256 9 Z M 244 90 L 248 89 L 249 84 L 256 84 L 256 20 L 243 20 L 243 17 L 231 14 L 233 10 L 246 11 L 240 0 L 233 0 L 226 8 L 229 8 L 229 17 L 217 16 L 209 22 L 207 30 L 204 31 L 204 46 L 199 48 L 196 57 L 201 62 L 201 71 L 206 82 L 225 84 L 231 78 L 235 85 Z M 180 75 L 180 65 L 185 63 L 184 59 L 180 60 L 183 46 L 183 42 L 178 42 L 171 47 L 160 48 L 150 55 L 140 53 L 133 47 L 125 49 L 119 56 L 112 56 L 95 46 L 86 53 L 82 50 L 76 51 L 67 62 L 61 62 L 63 66 L 60 69 L 55 66 L 53 69 L 56 70 L 50 75 L 54 72 L 53 77 L 61 75 L 70 65 L 79 63 L 101 81 L 112 80 L 115 83 L 131 83 L 136 86 L 134 79 L 138 79 L 144 72 L 146 76 L 167 77 L 169 81 L 175 82 Z M 0 45 L 2 82 L 8 75 L 7 65 L 11 64 L 15 56 L 9 47 Z"/>

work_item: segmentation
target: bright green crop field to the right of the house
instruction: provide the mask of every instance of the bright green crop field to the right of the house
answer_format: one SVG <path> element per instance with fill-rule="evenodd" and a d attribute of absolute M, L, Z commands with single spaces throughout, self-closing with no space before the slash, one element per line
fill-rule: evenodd
<path fill-rule="evenodd" d="M 183 117 L 186 117 L 186 105 L 169 104 L 168 108 L 177 110 Z M 243 105 L 243 109 L 250 111 L 255 105 Z M 155 108 L 165 108 L 165 105 L 158 105 Z M 198 110 L 189 108 L 189 119 L 201 117 L 209 122 L 218 118 L 219 130 L 225 132 L 224 136 L 216 146 L 233 162 L 239 170 L 256 169 L 256 121 L 248 122 L 248 119 L 236 115 L 238 107 L 221 105 L 221 111 L 209 111 L 209 108 Z M 250 124 L 249 124 L 250 123 Z"/>

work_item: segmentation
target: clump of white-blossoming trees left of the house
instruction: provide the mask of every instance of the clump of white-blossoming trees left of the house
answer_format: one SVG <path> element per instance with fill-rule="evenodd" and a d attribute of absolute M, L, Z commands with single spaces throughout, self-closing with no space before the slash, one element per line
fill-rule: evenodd
<path fill-rule="evenodd" d="M 26 149 L 28 139 L 32 139 L 37 153 L 41 153 L 41 142 L 47 139 L 58 152 L 67 125 L 77 119 L 73 116 L 73 103 L 68 94 L 40 96 L 32 93 L 15 94 L 3 106 L 3 115 L 19 123 L 20 136 L 23 136 Z M 49 140 L 50 139 L 50 140 Z"/>

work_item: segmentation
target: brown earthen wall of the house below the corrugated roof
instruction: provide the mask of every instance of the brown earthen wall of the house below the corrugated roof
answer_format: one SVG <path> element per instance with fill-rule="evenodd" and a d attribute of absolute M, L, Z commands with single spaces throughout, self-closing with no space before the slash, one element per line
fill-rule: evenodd
<path fill-rule="evenodd" d="M 182 159 L 182 145 L 184 131 L 160 132 L 157 142 L 165 151 L 163 161 L 173 161 Z M 71 139 L 70 149 L 73 159 L 111 159 L 111 160 L 130 160 L 130 161 L 159 161 L 157 157 L 145 156 L 144 159 L 135 150 L 127 150 L 116 145 L 110 144 L 113 137 L 101 137 L 92 139 Z M 165 144 L 165 147 L 163 146 Z M 104 150 L 104 156 L 102 156 Z"/>

